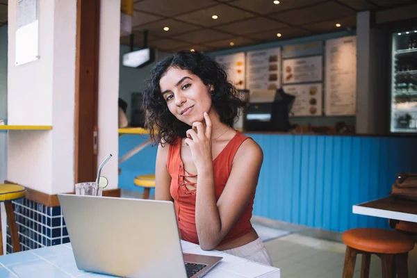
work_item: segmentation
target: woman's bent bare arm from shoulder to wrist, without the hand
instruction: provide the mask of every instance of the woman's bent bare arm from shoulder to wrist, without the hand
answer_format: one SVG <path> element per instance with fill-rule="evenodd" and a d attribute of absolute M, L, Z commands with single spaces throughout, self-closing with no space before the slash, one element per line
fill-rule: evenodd
<path fill-rule="evenodd" d="M 195 223 L 203 250 L 217 247 L 249 204 L 262 161 L 261 147 L 251 139 L 245 140 L 236 152 L 229 179 L 217 203 L 213 171 L 197 170 Z"/>

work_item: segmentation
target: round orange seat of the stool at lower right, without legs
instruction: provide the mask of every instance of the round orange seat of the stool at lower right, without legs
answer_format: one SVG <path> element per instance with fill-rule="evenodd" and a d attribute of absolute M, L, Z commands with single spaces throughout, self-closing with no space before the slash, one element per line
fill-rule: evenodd
<path fill-rule="evenodd" d="M 411 237 L 386 229 L 350 229 L 342 234 L 342 239 L 345 245 L 370 253 L 402 254 L 414 248 Z"/>

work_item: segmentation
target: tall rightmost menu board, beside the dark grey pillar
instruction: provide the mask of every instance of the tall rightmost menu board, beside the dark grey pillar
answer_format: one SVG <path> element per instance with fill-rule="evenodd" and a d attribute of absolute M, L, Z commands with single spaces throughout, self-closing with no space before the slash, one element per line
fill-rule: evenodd
<path fill-rule="evenodd" d="M 357 90 L 355 36 L 326 42 L 326 115 L 355 115 Z"/>

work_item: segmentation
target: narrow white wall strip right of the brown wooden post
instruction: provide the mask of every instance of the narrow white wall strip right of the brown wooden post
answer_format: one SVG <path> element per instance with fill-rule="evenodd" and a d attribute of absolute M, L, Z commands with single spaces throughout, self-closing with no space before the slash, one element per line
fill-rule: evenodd
<path fill-rule="evenodd" d="M 101 174 L 108 187 L 117 188 L 119 156 L 118 102 L 120 54 L 120 0 L 101 0 L 99 44 L 99 155 L 100 165 L 112 154 Z"/>

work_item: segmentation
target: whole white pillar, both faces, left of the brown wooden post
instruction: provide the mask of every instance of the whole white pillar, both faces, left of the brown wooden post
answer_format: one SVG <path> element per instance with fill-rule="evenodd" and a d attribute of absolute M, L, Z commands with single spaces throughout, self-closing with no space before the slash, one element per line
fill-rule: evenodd
<path fill-rule="evenodd" d="M 8 124 L 51 131 L 8 132 L 7 179 L 49 195 L 74 188 L 76 0 L 38 1 L 39 55 L 15 65 L 16 2 L 8 6 Z"/>

